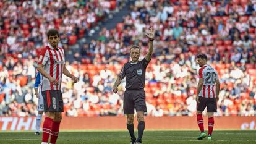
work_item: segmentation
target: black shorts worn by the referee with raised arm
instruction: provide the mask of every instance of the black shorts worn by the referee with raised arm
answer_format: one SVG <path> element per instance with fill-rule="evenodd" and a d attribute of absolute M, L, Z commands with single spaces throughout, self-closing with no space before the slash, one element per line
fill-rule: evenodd
<path fill-rule="evenodd" d="M 126 90 L 124 91 L 124 113 L 134 114 L 136 111 L 147 112 L 146 95 L 144 90 Z"/>

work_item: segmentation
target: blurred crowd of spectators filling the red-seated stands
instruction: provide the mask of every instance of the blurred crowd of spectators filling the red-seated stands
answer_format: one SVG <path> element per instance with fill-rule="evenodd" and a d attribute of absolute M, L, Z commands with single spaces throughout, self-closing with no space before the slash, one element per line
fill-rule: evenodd
<path fill-rule="evenodd" d="M 9 3 L 11 6 L 12 2 Z M 51 7 L 51 2 L 46 6 Z M 52 12 L 54 14 L 53 9 Z M 67 12 L 62 19 L 74 13 Z M 47 21 L 47 17 L 41 19 Z M 56 23 L 53 27 L 63 30 Z M 147 53 L 148 41 L 143 34 L 149 27 L 155 28 L 156 38 L 145 82 L 148 116 L 195 115 L 198 53 L 207 53 L 208 63 L 216 68 L 220 77 L 216 116 L 256 116 L 256 1 L 250 0 L 138 0 L 130 6 L 130 13 L 122 23 L 117 23 L 112 30 L 103 28 L 97 40 L 82 44 L 75 53 L 69 53 L 74 46 L 65 43 L 69 31 L 63 31 L 61 43 L 66 56 L 72 60 L 66 63 L 67 69 L 79 77 L 75 84 L 67 77 L 62 80 L 67 116 L 122 116 L 125 82 L 122 81 L 117 94 L 111 87 L 122 65 L 129 61 L 131 44 L 141 47 L 141 58 Z M 38 30 L 32 30 L 29 35 Z M 22 32 L 19 27 L 15 32 L 10 29 L 4 34 L 7 39 L 0 42 L 1 53 L 4 53 L 0 63 L 0 116 L 33 116 L 37 103 L 33 95 L 36 71 L 33 64 L 44 42 L 38 46 L 27 43 L 36 40 L 18 35 Z M 41 32 L 39 36 L 44 35 Z M 6 44 L 8 38 L 26 41 L 22 53 L 17 54 L 20 47 L 15 46 L 16 42 Z"/>

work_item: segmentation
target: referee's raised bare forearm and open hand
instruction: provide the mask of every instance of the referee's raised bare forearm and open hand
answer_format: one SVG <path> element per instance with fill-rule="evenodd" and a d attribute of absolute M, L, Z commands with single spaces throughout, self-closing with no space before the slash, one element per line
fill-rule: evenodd
<path fill-rule="evenodd" d="M 145 35 L 148 37 L 148 53 L 147 55 L 145 56 L 145 59 L 147 61 L 150 61 L 151 60 L 151 57 L 152 57 L 152 54 L 153 54 L 153 41 L 154 41 L 154 38 L 155 38 L 155 30 L 154 28 L 150 28 L 149 29 L 149 32 L 145 33 Z"/>

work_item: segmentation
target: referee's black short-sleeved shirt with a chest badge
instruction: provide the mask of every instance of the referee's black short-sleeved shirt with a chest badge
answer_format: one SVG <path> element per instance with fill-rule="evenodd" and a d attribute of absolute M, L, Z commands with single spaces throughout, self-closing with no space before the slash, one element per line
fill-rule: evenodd
<path fill-rule="evenodd" d="M 127 62 L 122 67 L 119 78 L 126 77 L 126 89 L 128 90 L 139 90 L 144 89 L 145 87 L 145 75 L 146 68 L 148 66 L 149 61 L 145 58 L 142 61 L 132 63 Z"/>

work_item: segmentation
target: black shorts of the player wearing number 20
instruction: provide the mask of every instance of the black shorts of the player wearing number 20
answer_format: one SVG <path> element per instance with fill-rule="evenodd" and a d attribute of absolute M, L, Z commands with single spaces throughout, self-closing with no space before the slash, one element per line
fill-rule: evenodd
<path fill-rule="evenodd" d="M 197 103 L 197 111 L 204 111 L 207 107 L 207 112 L 217 112 L 216 98 L 203 98 L 199 96 L 200 103 Z"/>

